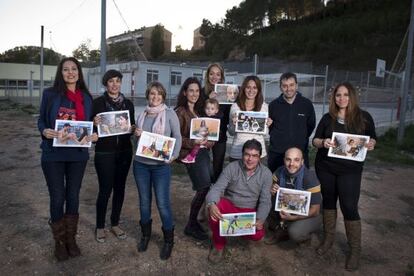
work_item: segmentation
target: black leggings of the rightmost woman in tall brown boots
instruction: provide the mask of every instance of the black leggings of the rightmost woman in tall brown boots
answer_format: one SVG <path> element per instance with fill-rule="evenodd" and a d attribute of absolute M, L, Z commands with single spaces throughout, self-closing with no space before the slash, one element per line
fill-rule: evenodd
<path fill-rule="evenodd" d="M 358 201 L 361 192 L 362 172 L 336 174 L 316 168 L 321 183 L 324 209 L 336 209 L 339 205 L 345 220 L 359 220 Z"/>

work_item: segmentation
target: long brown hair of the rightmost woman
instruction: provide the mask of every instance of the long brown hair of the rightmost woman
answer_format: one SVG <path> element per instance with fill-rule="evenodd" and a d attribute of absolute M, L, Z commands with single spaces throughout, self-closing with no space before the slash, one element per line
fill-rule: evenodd
<path fill-rule="evenodd" d="M 356 133 L 363 133 L 365 130 L 365 121 L 362 115 L 362 110 L 358 104 L 358 95 L 355 88 L 349 82 L 342 82 L 335 86 L 329 102 L 329 115 L 334 119 L 335 123 L 338 119 L 339 107 L 336 105 L 335 96 L 338 89 L 343 86 L 348 90 L 349 101 L 345 112 L 345 127 L 348 131 L 355 131 Z"/>

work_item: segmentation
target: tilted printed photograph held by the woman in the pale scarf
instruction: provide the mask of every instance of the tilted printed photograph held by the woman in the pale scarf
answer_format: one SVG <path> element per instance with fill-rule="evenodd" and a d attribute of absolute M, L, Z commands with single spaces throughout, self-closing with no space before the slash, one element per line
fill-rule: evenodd
<path fill-rule="evenodd" d="M 175 138 L 146 132 L 141 133 L 136 155 L 159 161 L 170 161 L 175 145 Z"/>

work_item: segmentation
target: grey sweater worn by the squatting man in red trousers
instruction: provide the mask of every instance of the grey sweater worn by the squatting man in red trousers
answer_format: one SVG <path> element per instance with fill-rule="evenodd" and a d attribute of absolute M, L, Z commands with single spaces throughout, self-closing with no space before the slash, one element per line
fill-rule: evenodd
<path fill-rule="evenodd" d="M 263 164 L 259 163 L 254 174 L 248 178 L 243 161 L 234 161 L 211 186 L 206 202 L 218 203 L 220 196 L 224 194 L 225 198 L 239 208 L 256 209 L 256 218 L 264 222 L 272 206 L 271 185 L 272 173 Z"/>

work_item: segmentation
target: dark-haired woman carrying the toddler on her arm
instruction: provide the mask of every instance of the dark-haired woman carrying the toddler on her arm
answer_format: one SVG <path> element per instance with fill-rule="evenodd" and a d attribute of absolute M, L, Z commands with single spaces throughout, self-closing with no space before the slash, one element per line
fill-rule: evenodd
<path fill-rule="evenodd" d="M 179 160 L 185 158 L 195 145 L 200 145 L 195 162 L 185 164 L 196 194 L 191 202 L 190 216 L 184 233 L 196 240 L 206 240 L 208 235 L 199 224 L 197 216 L 211 184 L 209 149 L 214 142 L 203 138 L 190 139 L 191 119 L 199 117 L 203 112 L 204 101 L 200 97 L 200 89 L 200 82 L 197 78 L 186 79 L 178 94 L 175 111 L 180 121 L 183 136 Z"/>

